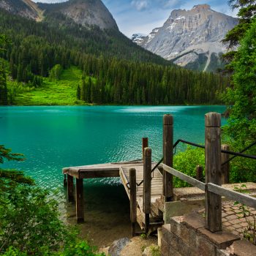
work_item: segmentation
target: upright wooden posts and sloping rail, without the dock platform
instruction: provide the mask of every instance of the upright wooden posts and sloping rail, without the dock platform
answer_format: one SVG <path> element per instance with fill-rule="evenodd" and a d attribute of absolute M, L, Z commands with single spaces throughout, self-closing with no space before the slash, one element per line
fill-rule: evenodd
<path fill-rule="evenodd" d="M 197 166 L 197 178 L 192 178 L 173 168 L 173 116 L 163 118 L 163 161 L 159 165 L 162 171 L 162 195 L 165 202 L 173 200 L 173 176 L 205 191 L 206 195 L 206 228 L 211 232 L 222 230 L 222 196 L 256 208 L 256 198 L 231 191 L 221 187 L 229 182 L 229 146 L 221 145 L 221 115 L 207 113 L 205 119 L 205 164 L 206 176 L 203 179 L 203 168 Z M 177 143 L 176 143 L 177 144 Z M 238 156 L 242 154 L 237 153 Z M 247 156 L 255 159 L 253 156 Z M 145 214 L 145 230 L 148 232 L 149 214 L 151 213 L 151 148 L 148 148 L 148 139 L 143 138 L 143 212 Z M 130 170 L 131 220 L 136 222 L 136 172 Z M 133 198 L 133 199 L 132 199 Z M 134 228 L 135 230 L 135 228 Z"/>

